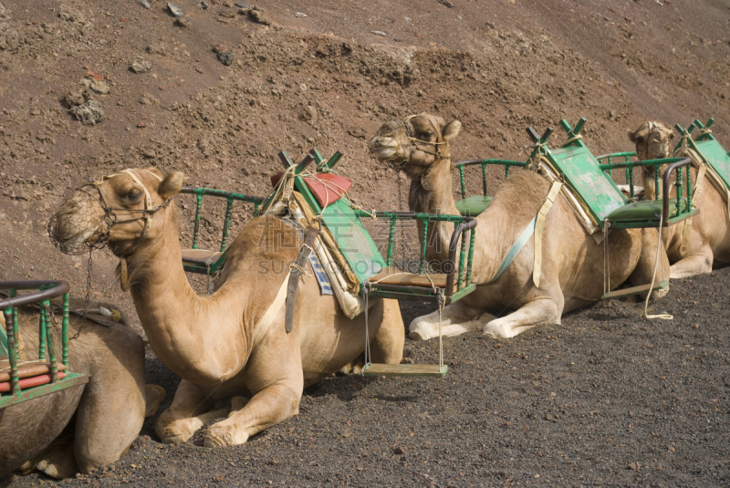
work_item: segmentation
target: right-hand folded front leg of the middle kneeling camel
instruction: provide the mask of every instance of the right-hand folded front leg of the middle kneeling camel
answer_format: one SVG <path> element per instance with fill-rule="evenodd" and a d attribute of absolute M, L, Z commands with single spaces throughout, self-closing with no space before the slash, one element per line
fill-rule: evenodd
<path fill-rule="evenodd" d="M 552 298 L 538 298 L 519 307 L 506 317 L 497 318 L 485 325 L 484 338 L 515 337 L 527 329 L 544 324 L 559 324 L 562 304 Z"/>

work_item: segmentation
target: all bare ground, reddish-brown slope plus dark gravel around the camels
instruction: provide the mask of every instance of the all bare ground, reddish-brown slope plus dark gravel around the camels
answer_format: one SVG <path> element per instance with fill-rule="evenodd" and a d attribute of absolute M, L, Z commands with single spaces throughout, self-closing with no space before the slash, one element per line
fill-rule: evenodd
<path fill-rule="evenodd" d="M 264 0 L 257 18 L 204 4 L 177 0 L 181 22 L 160 0 L 0 0 L 0 279 L 63 278 L 83 295 L 87 257 L 57 252 L 48 217 L 126 167 L 263 194 L 278 151 L 339 150 L 360 205 L 405 209 L 406 182 L 367 140 L 422 111 L 462 121 L 457 161 L 525 159 L 527 126 L 580 117 L 595 154 L 631 150 L 626 129 L 645 119 L 714 117 L 730 147 L 724 0 Z M 95 125 L 71 113 L 89 99 Z M 234 233 L 249 210 L 235 209 Z M 134 317 L 116 264 L 94 254 L 92 297 Z M 727 486 L 728 273 L 673 282 L 654 305 L 673 321 L 603 303 L 513 340 L 447 339 L 443 380 L 328 379 L 243 446 L 164 446 L 148 421 L 115 466 L 61 484 Z M 431 311 L 402 308 L 406 323 Z M 433 360 L 435 345 L 406 351 Z M 172 397 L 178 379 L 148 366 Z"/>

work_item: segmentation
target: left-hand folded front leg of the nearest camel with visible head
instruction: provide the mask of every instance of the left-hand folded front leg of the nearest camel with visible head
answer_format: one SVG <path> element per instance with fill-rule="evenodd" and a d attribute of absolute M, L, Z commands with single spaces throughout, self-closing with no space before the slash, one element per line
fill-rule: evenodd
<path fill-rule="evenodd" d="M 214 401 L 203 389 L 183 379 L 175 391 L 172 405 L 155 422 L 154 431 L 166 444 L 186 442 L 203 425 L 225 416 L 227 409 L 211 411 Z"/>

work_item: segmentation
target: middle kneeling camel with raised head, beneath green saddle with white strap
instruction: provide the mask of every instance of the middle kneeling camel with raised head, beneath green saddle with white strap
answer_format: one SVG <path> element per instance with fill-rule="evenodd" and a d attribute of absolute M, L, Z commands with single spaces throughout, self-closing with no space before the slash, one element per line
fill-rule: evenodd
<path fill-rule="evenodd" d="M 411 179 L 410 210 L 458 215 L 454 206 L 450 143 L 461 122 L 420 114 L 386 122 L 370 140 L 370 151 L 381 161 L 405 171 Z M 550 183 L 534 171 L 515 171 L 477 217 L 473 283 L 476 289 L 443 310 L 443 335 L 481 331 L 481 337 L 515 337 L 531 327 L 560 324 L 571 310 L 595 302 L 604 293 L 604 244 L 596 244 L 563 198 L 547 213 L 542 241 L 542 278 L 533 284 L 534 239 L 516 254 L 506 272 L 491 283 L 503 258 L 536 216 Z M 428 259 L 447 258 L 447 224 L 429 225 Z M 437 235 L 434 235 L 437 233 Z M 608 237 L 610 288 L 626 279 L 637 285 L 652 281 L 657 233 L 655 229 L 613 229 Z M 662 246 L 659 246 L 660 248 Z M 668 275 L 661 249 L 657 280 Z M 658 283 L 659 281 L 657 281 Z M 662 296 L 666 291 L 654 292 Z M 502 314 L 513 310 L 505 317 Z M 415 318 L 412 339 L 438 335 L 438 313 Z"/>

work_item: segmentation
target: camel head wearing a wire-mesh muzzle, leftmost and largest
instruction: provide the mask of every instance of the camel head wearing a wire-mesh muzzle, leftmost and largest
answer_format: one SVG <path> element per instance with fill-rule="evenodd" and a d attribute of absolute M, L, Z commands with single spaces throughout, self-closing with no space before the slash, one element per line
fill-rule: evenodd
<path fill-rule="evenodd" d="M 141 242 L 161 232 L 171 198 L 183 186 L 183 173 L 124 170 L 86 183 L 61 205 L 48 223 L 54 244 L 66 254 L 109 244 L 118 256 L 131 254 Z"/>

